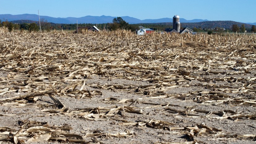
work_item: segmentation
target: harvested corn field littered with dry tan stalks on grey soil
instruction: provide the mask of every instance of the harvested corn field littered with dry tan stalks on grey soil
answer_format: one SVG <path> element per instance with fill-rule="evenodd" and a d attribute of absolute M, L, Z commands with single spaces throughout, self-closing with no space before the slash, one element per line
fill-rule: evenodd
<path fill-rule="evenodd" d="M 256 140 L 255 35 L 0 37 L 0 143 Z"/>

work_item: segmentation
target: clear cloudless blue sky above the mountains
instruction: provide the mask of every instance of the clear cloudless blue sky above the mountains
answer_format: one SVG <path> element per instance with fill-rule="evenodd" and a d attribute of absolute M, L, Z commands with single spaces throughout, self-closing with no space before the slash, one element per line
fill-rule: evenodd
<path fill-rule="evenodd" d="M 256 0 L 0 0 L 0 14 L 51 17 L 130 16 L 137 19 L 256 22 Z"/>

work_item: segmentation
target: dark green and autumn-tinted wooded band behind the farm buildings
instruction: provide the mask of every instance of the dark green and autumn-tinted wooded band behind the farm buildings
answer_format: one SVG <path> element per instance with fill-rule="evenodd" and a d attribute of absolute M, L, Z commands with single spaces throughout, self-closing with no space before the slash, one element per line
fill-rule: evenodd
<path fill-rule="evenodd" d="M 51 30 L 76 30 L 76 24 L 61 24 L 61 23 L 49 23 L 45 19 L 41 19 L 41 30 L 44 32 L 50 32 Z M 92 27 L 95 24 L 92 23 L 80 23 L 78 27 Z M 155 31 L 164 31 L 166 28 L 172 28 L 172 23 L 139 23 L 139 24 L 129 24 L 124 21 L 121 17 L 114 18 L 112 23 L 102 23 L 97 24 L 97 28 L 100 30 L 117 30 L 117 29 L 127 29 L 135 32 L 138 27 L 142 25 L 145 28 L 153 28 Z M 232 25 L 232 26 L 231 26 Z M 39 22 L 31 20 L 18 20 L 8 22 L 0 20 L 0 27 L 5 26 L 10 31 L 11 30 L 29 30 L 29 31 L 39 31 Z M 224 28 L 231 30 L 232 32 L 256 32 L 255 25 L 241 24 L 234 21 L 207 21 L 199 23 L 181 23 L 181 29 L 188 27 L 193 29 L 194 32 L 224 32 Z"/>

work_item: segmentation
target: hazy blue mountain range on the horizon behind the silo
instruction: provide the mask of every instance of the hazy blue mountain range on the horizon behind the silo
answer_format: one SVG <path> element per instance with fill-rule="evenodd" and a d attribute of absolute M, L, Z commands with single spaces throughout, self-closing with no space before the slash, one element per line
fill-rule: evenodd
<path fill-rule="evenodd" d="M 40 19 L 45 19 L 50 23 L 76 23 L 76 20 L 78 23 L 112 23 L 112 20 L 116 18 L 113 16 L 84 16 L 80 18 L 75 17 L 67 17 L 67 18 L 54 18 L 49 16 L 40 16 Z M 14 20 L 33 20 L 38 21 L 38 15 L 34 14 L 22 14 L 22 15 L 10 15 L 10 14 L 2 14 L 0 15 L 0 19 L 8 20 L 8 21 L 14 21 Z M 171 18 L 162 18 L 162 19 L 136 19 L 129 16 L 122 16 L 122 19 L 124 19 L 129 24 L 135 24 L 135 23 L 164 23 L 164 22 L 172 22 Z M 207 19 L 193 19 L 193 20 L 186 20 L 186 19 L 180 19 L 181 23 L 194 23 L 194 22 L 202 22 L 202 21 L 208 21 Z"/>

